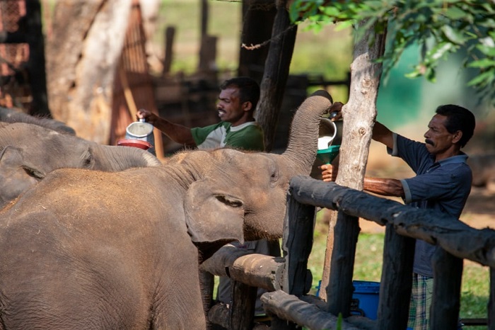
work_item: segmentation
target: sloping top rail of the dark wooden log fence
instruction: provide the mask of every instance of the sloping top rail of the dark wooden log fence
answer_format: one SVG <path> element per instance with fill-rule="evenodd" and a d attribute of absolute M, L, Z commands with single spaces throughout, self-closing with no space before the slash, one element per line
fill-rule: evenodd
<path fill-rule="evenodd" d="M 342 210 L 381 225 L 392 224 L 400 235 L 438 244 L 453 256 L 495 268 L 494 229 L 474 229 L 435 210 L 402 205 L 309 176 L 293 177 L 291 187 L 300 203 Z"/>

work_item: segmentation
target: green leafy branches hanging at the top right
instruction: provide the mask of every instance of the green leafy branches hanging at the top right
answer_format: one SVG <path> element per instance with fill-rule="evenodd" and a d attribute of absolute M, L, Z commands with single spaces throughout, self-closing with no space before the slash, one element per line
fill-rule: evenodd
<path fill-rule="evenodd" d="M 373 25 L 375 33 L 387 33 L 385 54 L 378 59 L 385 77 L 410 45 L 419 45 L 421 54 L 407 76 L 425 76 L 431 82 L 440 60 L 465 50 L 462 65 L 479 70 L 468 86 L 495 103 L 494 0 L 295 0 L 290 15 L 295 23 L 308 21 L 316 32 L 339 23 L 337 28 L 356 26 L 356 38 Z"/>

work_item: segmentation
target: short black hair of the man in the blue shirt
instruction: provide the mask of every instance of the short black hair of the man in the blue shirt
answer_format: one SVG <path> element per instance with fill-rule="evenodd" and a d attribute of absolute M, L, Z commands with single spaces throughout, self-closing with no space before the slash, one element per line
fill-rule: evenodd
<path fill-rule="evenodd" d="M 459 144 L 461 148 L 464 147 L 474 134 L 474 127 L 476 126 L 476 120 L 472 112 L 466 108 L 462 108 L 462 106 L 446 104 L 438 106 L 436 113 L 447 117 L 445 128 L 450 134 L 458 130 L 462 132 Z"/>

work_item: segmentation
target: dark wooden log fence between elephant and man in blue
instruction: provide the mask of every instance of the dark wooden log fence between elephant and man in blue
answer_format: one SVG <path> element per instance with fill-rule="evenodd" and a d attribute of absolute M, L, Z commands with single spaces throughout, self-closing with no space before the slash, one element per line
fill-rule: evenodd
<path fill-rule="evenodd" d="M 339 239 L 334 243 L 327 302 L 307 295 L 312 283 L 307 264 L 313 244 L 316 207 L 339 211 L 335 227 Z M 354 230 L 348 230 L 349 223 L 339 228 L 339 222 L 351 222 L 351 227 L 357 226 L 359 233 L 359 217 L 385 226 L 376 320 L 350 312 L 352 272 L 345 269 L 349 268 L 349 263 L 354 268 L 357 237 Z M 270 329 L 296 329 L 299 326 L 336 329 L 339 313 L 344 316 L 342 329 L 406 329 L 414 239 L 439 246 L 433 258 L 435 284 L 431 329 L 458 328 L 462 259 L 469 259 L 490 268 L 487 322 L 488 329 L 494 330 L 494 230 L 474 229 L 440 212 L 419 210 L 307 176 L 296 176 L 291 180 L 282 241 L 283 258 L 249 254 L 225 246 L 203 263 L 205 273 L 228 275 L 234 280 L 231 306 L 211 307 L 209 322 L 226 329 L 253 329 L 255 287 L 259 287 L 269 291 L 261 299 L 265 311 L 272 317 Z M 347 243 L 340 244 L 342 241 Z M 349 249 L 349 242 L 354 244 L 354 249 Z"/>

